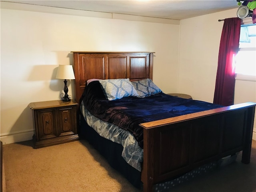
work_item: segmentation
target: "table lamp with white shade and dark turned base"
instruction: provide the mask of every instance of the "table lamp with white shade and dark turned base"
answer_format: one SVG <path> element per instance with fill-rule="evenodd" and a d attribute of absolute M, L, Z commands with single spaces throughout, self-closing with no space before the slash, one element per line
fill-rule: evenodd
<path fill-rule="evenodd" d="M 67 79 L 75 79 L 74 71 L 72 65 L 59 65 L 56 74 L 56 79 L 64 79 L 64 97 L 61 98 L 62 101 L 70 101 L 68 97 L 68 86 Z"/>

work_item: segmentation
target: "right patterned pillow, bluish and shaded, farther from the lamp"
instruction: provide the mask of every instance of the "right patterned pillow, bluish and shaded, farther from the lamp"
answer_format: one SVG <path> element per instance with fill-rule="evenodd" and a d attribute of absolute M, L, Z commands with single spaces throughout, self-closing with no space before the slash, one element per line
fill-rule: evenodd
<path fill-rule="evenodd" d="M 156 86 L 151 79 L 132 81 L 132 84 L 139 94 L 138 97 L 146 97 L 162 92 L 162 90 Z"/>

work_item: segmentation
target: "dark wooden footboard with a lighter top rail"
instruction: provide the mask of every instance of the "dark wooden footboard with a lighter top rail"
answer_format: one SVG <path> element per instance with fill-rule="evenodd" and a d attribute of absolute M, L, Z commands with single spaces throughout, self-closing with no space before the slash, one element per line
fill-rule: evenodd
<path fill-rule="evenodd" d="M 140 124 L 144 128 L 144 192 L 151 192 L 153 184 L 241 150 L 242 162 L 248 164 L 255 106 L 247 102 Z"/>

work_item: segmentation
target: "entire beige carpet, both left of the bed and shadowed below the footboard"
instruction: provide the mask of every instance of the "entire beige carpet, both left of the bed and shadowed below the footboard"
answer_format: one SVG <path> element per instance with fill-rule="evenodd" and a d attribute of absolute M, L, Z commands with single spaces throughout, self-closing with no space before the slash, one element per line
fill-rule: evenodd
<path fill-rule="evenodd" d="M 84 140 L 33 149 L 3 146 L 7 192 L 141 192 Z M 256 141 L 250 164 L 236 162 L 172 188 L 173 192 L 256 192 Z"/>

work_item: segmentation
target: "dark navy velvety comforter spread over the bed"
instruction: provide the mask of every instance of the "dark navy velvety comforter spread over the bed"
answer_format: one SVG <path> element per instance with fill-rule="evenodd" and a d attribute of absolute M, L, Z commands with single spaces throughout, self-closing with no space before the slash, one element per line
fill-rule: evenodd
<path fill-rule="evenodd" d="M 97 118 L 132 133 L 141 148 L 143 148 L 143 128 L 139 124 L 222 107 L 164 93 L 145 98 L 131 96 L 108 101 L 98 81 L 90 82 L 86 86 L 82 100 L 86 109 Z"/>

